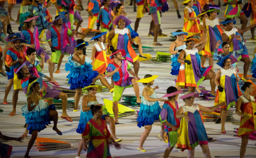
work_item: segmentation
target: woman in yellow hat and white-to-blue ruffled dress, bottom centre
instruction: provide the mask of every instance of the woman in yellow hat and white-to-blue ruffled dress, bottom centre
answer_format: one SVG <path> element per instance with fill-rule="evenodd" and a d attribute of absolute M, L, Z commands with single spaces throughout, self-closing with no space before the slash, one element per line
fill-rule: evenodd
<path fill-rule="evenodd" d="M 154 88 L 151 88 L 152 85 L 154 85 L 154 79 L 156 79 L 158 75 L 145 75 L 144 79 L 140 79 L 137 82 L 142 82 L 142 84 L 145 86 L 142 92 L 141 97 L 141 105 L 140 110 L 137 117 L 137 126 L 141 128 L 141 126 L 145 127 L 145 131 L 141 134 L 139 139 L 139 146 L 138 150 L 145 152 L 146 150 L 143 148 L 143 144 L 148 137 L 152 125 L 154 121 L 159 120 L 159 114 L 161 112 L 161 107 L 159 106 L 158 101 L 165 102 L 165 99 L 157 98 L 156 93 L 154 92 L 155 89 L 159 89 L 158 86 L 155 86 Z M 165 130 L 162 128 L 161 131 L 161 137 L 164 136 Z"/>

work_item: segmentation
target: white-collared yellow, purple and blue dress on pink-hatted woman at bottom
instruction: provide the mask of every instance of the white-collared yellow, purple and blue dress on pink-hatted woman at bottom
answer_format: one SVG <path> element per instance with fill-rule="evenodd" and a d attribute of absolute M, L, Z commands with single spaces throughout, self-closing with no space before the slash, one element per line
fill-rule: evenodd
<path fill-rule="evenodd" d="M 190 121 L 186 122 L 184 117 L 181 118 L 177 148 L 184 151 L 185 149 L 192 150 L 197 145 L 207 145 L 208 138 L 198 105 L 183 105 L 182 108 L 183 114 L 186 114 Z"/>

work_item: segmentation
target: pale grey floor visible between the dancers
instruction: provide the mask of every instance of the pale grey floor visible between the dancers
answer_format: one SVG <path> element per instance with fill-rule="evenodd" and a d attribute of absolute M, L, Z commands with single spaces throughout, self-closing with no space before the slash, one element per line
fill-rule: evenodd
<path fill-rule="evenodd" d="M 178 0 L 179 4 L 182 3 L 182 0 Z M 6 2 L 7 3 L 7 2 Z M 84 8 L 87 8 L 87 1 L 83 1 Z M 223 2 L 222 2 L 223 3 Z M 151 21 L 151 16 L 145 15 L 144 18 L 140 21 L 140 26 L 138 29 L 139 37 L 141 38 L 142 44 L 144 46 L 150 46 L 154 47 L 155 51 L 160 52 L 168 52 L 169 46 L 171 42 L 169 41 L 169 35 L 171 32 L 176 31 L 177 29 L 183 28 L 183 9 L 184 6 L 180 6 L 180 11 L 182 13 L 182 18 L 178 19 L 176 15 L 176 11 L 174 9 L 172 1 L 169 1 L 170 9 L 167 13 L 163 13 L 163 17 L 161 20 L 161 28 L 163 30 L 164 34 L 167 34 L 168 37 L 159 37 L 158 41 L 163 44 L 163 46 L 153 46 L 153 37 L 148 37 L 148 30 L 149 30 L 149 23 Z M 7 5 L 5 5 L 7 8 Z M 126 0 L 125 3 L 126 11 L 128 13 L 128 18 L 133 22 L 131 24 L 132 28 L 134 28 L 134 22 L 136 20 L 136 12 L 133 12 L 133 7 L 128 6 L 128 0 Z M 15 5 L 12 15 L 13 18 L 16 19 L 17 12 L 19 9 L 19 4 Z M 50 13 L 52 14 L 53 18 L 55 17 L 55 7 L 52 5 L 50 8 Z M 225 12 L 225 7 L 221 8 L 221 15 L 218 17 L 222 20 L 225 20 L 223 18 L 223 14 Z M 84 10 L 82 11 L 82 18 L 83 23 L 82 27 L 86 28 L 88 24 L 88 13 Z M 236 18 L 238 20 L 238 18 Z M 249 22 L 248 22 L 249 23 Z M 12 30 L 14 32 L 18 32 L 18 25 L 14 22 L 11 22 Z M 240 27 L 240 21 L 238 20 L 236 26 Z M 247 25 L 249 26 L 249 24 Z M 94 27 L 96 29 L 96 26 Z M 46 32 L 45 32 L 46 33 Z M 93 34 L 88 35 L 86 40 L 90 40 L 91 37 L 93 37 Z M 244 34 L 245 39 L 248 41 L 248 39 L 251 37 L 250 31 Z M 91 49 L 94 42 L 89 42 L 88 46 L 88 58 L 91 59 Z M 2 49 L 4 48 L 4 44 L 0 44 Z M 253 52 L 255 48 L 255 44 L 251 42 L 246 43 L 248 52 L 250 55 L 251 60 L 253 59 Z M 50 50 L 48 44 L 47 51 Z M 151 53 L 152 57 L 155 57 L 155 53 Z M 61 85 L 61 87 L 69 88 L 69 85 L 67 84 L 65 76 L 67 76 L 68 72 L 64 70 L 64 65 L 67 62 L 67 57 L 64 57 L 62 66 L 61 66 L 61 73 L 60 74 L 54 74 L 56 81 L 58 81 Z M 216 63 L 216 61 L 214 62 Z M 206 61 L 206 66 L 208 65 L 208 59 Z M 55 68 L 56 69 L 56 68 Z M 216 64 L 214 65 L 214 71 L 217 72 L 219 69 L 219 66 Z M 238 63 L 238 69 L 240 72 L 243 72 L 243 63 Z M 171 70 L 171 63 L 164 63 L 164 62 L 156 62 L 156 61 L 144 61 L 140 62 L 140 71 L 139 71 L 139 77 L 143 78 L 146 74 L 151 75 L 159 75 L 157 79 L 155 79 L 155 85 L 159 85 L 160 89 L 155 90 L 158 97 L 163 97 L 166 89 L 169 86 L 174 86 L 174 79 L 175 76 L 170 75 Z M 249 74 L 251 74 L 251 70 L 249 70 Z M 43 73 L 45 73 L 47 76 L 48 74 L 48 65 L 45 64 L 45 69 L 43 70 Z M 110 79 L 108 79 L 110 82 Z M 18 105 L 17 105 L 17 113 L 15 116 L 8 116 L 8 114 L 12 110 L 12 94 L 13 89 L 10 91 L 8 96 L 8 105 L 2 104 L 2 98 L 4 97 L 4 91 L 5 87 L 8 83 L 7 77 L 0 76 L 0 109 L 3 109 L 4 112 L 0 114 L 0 131 L 8 136 L 11 137 L 19 137 L 24 132 L 23 125 L 25 124 L 25 119 L 22 116 L 22 112 L 20 108 L 25 105 L 26 103 L 26 97 L 24 93 L 21 91 L 19 93 L 18 98 Z M 140 93 L 142 93 L 143 85 L 139 84 L 140 86 Z M 210 90 L 210 83 L 209 80 L 206 80 L 202 82 L 201 86 L 206 87 L 208 90 Z M 133 89 L 128 88 L 124 92 L 125 95 L 134 95 Z M 107 98 L 112 100 L 112 96 L 110 93 L 100 93 L 97 94 L 97 99 L 99 101 L 102 101 L 103 98 Z M 82 99 L 82 97 L 81 97 Z M 73 98 L 69 98 L 69 100 L 73 100 Z M 204 106 L 212 106 L 214 105 L 213 101 L 206 102 L 206 101 L 200 101 L 196 100 L 196 103 L 199 103 Z M 183 105 L 183 101 L 181 99 L 178 100 L 179 105 Z M 163 105 L 163 103 L 160 103 L 160 105 Z M 139 108 L 135 107 L 133 108 L 135 110 L 139 110 Z M 62 131 L 63 135 L 59 136 L 55 133 L 55 131 L 52 130 L 52 126 L 46 128 L 42 132 L 38 134 L 38 137 L 44 137 L 44 138 L 51 138 L 56 140 L 62 140 L 66 141 L 72 144 L 72 147 L 69 149 L 59 149 L 59 150 L 53 150 L 53 151 L 45 151 L 45 152 L 39 152 L 36 147 L 32 147 L 30 151 L 30 156 L 32 158 L 74 158 L 77 152 L 77 146 L 78 142 L 81 139 L 81 135 L 76 133 L 77 125 L 79 123 L 79 116 L 80 116 L 80 106 L 79 106 L 79 112 L 73 112 L 73 109 L 68 109 L 68 114 L 73 118 L 73 122 L 67 122 L 59 117 L 58 121 L 58 128 L 60 131 Z M 234 108 L 232 109 L 234 110 Z M 62 114 L 62 110 L 58 110 L 59 116 Z M 234 114 L 235 120 L 232 122 L 226 123 L 226 131 L 227 134 L 221 134 L 220 133 L 220 124 L 215 124 L 213 122 L 206 122 L 204 123 L 207 134 L 211 137 L 213 137 L 214 140 L 209 142 L 210 152 L 212 158 L 239 158 L 239 148 L 241 139 L 238 137 L 234 137 L 235 134 L 234 128 L 239 127 L 239 117 L 238 115 Z M 162 140 L 158 138 L 158 134 L 161 130 L 160 125 L 161 123 L 154 123 L 152 131 L 145 141 L 144 149 L 147 150 L 147 152 L 140 152 L 137 150 L 137 146 L 139 143 L 139 138 L 141 133 L 144 131 L 144 129 L 140 129 L 137 127 L 136 123 L 136 116 L 127 116 L 119 119 L 119 125 L 116 126 L 116 133 L 117 137 L 119 139 L 123 139 L 120 144 L 122 145 L 120 150 L 116 150 L 113 145 L 110 145 L 110 153 L 112 157 L 121 157 L 121 158 L 161 158 L 164 155 L 164 151 L 168 144 L 165 144 Z M 30 139 L 30 135 L 23 143 L 18 143 L 15 141 L 9 141 L 7 144 L 13 146 L 12 150 L 12 157 L 13 158 L 22 158 L 25 155 L 26 149 L 27 149 L 27 143 Z M 249 140 L 247 145 L 247 158 L 256 158 L 256 141 Z M 195 152 L 195 158 L 203 158 L 202 150 L 198 146 L 196 147 Z M 82 151 L 81 158 L 86 157 L 86 152 Z M 169 158 L 186 158 L 187 157 L 187 151 L 181 152 L 178 149 L 174 149 L 172 153 L 170 154 Z"/>

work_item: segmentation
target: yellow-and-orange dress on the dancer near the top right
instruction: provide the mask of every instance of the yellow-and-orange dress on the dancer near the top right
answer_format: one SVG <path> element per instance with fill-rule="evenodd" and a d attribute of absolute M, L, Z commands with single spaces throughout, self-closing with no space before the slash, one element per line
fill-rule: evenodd
<path fill-rule="evenodd" d="M 189 10 L 189 17 L 196 17 L 196 13 L 194 12 L 193 8 L 185 7 L 185 9 Z M 183 31 L 187 32 L 188 35 L 186 38 L 191 37 L 196 34 L 200 34 L 200 29 L 199 29 L 199 23 L 197 19 L 194 20 L 188 20 L 184 13 L 184 26 L 183 26 Z"/>

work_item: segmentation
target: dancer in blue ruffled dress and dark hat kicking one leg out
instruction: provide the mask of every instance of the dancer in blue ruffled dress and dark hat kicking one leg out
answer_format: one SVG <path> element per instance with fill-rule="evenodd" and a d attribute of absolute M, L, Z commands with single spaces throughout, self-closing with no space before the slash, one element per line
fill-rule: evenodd
<path fill-rule="evenodd" d="M 73 110 L 75 112 L 78 109 L 82 88 L 89 86 L 97 79 L 100 79 L 102 85 L 106 86 L 110 92 L 114 90 L 107 79 L 97 71 L 93 71 L 91 64 L 86 62 L 86 46 L 88 46 L 88 42 L 84 42 L 82 39 L 77 40 L 75 52 L 68 57 L 68 63 L 65 64 L 65 70 L 70 71 L 66 77 L 69 79 L 68 83 L 71 84 L 70 89 L 76 89 L 74 96 L 75 107 Z"/>

